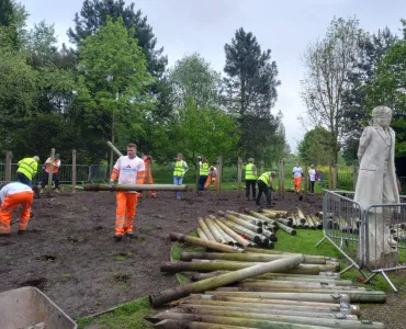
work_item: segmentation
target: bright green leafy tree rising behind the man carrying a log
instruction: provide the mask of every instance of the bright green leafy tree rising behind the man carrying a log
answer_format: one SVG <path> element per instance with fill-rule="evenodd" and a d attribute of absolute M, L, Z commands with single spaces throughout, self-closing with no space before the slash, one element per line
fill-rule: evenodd
<path fill-rule="evenodd" d="M 133 34 L 122 19 L 109 18 L 79 48 L 79 81 L 84 86 L 79 99 L 89 124 L 113 144 L 117 136 L 144 134 L 142 110 L 149 104 L 144 92 L 154 82 Z"/>

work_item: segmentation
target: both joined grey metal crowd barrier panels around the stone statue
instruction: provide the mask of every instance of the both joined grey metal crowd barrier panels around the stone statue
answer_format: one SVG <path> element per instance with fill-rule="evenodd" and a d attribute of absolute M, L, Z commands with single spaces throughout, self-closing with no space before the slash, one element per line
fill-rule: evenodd
<path fill-rule="evenodd" d="M 365 283 L 381 274 L 397 292 L 386 273 L 406 270 L 406 203 L 363 209 L 352 196 L 353 192 L 325 190 L 324 238 L 316 247 L 328 240 L 340 251 L 350 262 L 341 274 L 356 268 Z M 401 202 L 405 200 L 406 195 L 401 195 Z"/>

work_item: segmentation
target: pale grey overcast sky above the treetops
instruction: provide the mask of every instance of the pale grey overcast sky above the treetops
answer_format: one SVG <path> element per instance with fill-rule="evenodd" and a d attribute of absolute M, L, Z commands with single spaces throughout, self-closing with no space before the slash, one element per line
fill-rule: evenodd
<path fill-rule="evenodd" d="M 59 43 L 68 43 L 66 31 L 74 26 L 82 0 L 21 0 L 31 14 L 29 26 L 45 20 L 55 23 Z M 126 1 L 127 3 L 132 1 Z M 368 32 L 388 26 L 399 33 L 406 19 L 405 0 L 135 0 L 148 16 L 172 66 L 183 55 L 199 52 L 217 71 L 224 68 L 224 44 L 237 29 L 257 36 L 262 49 L 272 50 L 279 68 L 279 98 L 272 112 L 283 113 L 286 138 L 296 148 L 305 131 L 297 116 L 305 111 L 301 102 L 300 56 L 308 42 L 323 36 L 332 19 L 357 15 Z"/>

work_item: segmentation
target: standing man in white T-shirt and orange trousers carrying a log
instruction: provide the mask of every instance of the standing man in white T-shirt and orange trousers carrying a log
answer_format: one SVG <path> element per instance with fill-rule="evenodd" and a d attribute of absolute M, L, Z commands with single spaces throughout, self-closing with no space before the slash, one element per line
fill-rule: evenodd
<path fill-rule="evenodd" d="M 119 178 L 119 184 L 144 184 L 145 164 L 143 159 L 136 156 L 137 146 L 127 145 L 127 155 L 119 158 L 110 177 L 111 190 L 114 191 L 114 181 Z M 114 240 L 120 241 L 125 235 L 127 238 L 136 238 L 133 234 L 134 218 L 136 215 L 137 198 L 136 191 L 116 192 L 116 217 Z"/>

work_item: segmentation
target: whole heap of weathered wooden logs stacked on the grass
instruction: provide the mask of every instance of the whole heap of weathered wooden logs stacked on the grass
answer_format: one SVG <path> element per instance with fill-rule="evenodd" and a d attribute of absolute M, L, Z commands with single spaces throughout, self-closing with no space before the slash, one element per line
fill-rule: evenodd
<path fill-rule="evenodd" d="M 319 224 L 297 217 L 305 219 L 300 225 Z M 384 328 L 360 320 L 353 303 L 384 303 L 385 293 L 342 280 L 337 259 L 269 249 L 278 229 L 295 235 L 295 218 L 286 212 L 227 211 L 199 218 L 199 238 L 170 234 L 210 252 L 181 252 L 180 261 L 161 265 L 161 272 L 183 272 L 192 282 L 150 295 L 153 307 L 171 308 L 147 319 L 166 329 Z"/>

